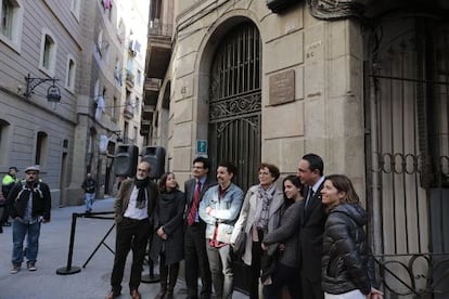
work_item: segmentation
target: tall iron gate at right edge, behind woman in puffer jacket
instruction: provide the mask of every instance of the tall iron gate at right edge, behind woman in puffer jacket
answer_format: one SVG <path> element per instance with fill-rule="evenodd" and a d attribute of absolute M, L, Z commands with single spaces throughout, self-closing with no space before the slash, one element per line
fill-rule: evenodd
<path fill-rule="evenodd" d="M 389 18 L 369 49 L 367 193 L 385 298 L 448 298 L 449 26 Z"/>

